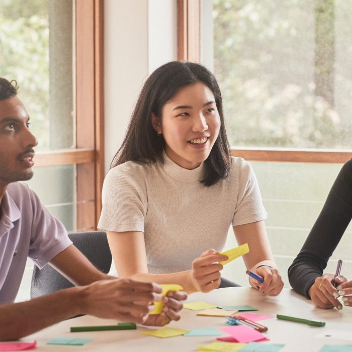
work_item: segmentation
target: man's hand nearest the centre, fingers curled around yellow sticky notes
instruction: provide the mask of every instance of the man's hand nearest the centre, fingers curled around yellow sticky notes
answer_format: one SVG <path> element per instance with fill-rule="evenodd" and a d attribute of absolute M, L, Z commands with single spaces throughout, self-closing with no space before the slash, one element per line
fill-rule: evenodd
<path fill-rule="evenodd" d="M 160 314 L 148 315 L 143 325 L 150 326 L 164 326 L 171 320 L 180 320 L 180 310 L 183 308 L 183 304 L 180 301 L 187 299 L 187 293 L 184 291 L 169 291 L 162 302 L 164 306 Z"/>

